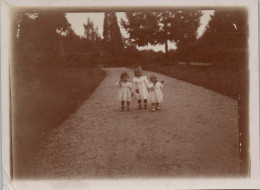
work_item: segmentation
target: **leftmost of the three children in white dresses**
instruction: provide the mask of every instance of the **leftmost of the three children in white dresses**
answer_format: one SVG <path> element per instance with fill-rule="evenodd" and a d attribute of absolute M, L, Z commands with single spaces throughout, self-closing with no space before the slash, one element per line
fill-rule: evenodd
<path fill-rule="evenodd" d="M 132 84 L 128 82 L 129 75 L 126 72 L 123 72 L 120 75 L 120 81 L 116 83 L 119 87 L 117 98 L 121 102 L 121 111 L 124 111 L 124 104 L 127 104 L 127 111 L 130 111 L 130 101 L 132 96 L 134 95 Z"/>

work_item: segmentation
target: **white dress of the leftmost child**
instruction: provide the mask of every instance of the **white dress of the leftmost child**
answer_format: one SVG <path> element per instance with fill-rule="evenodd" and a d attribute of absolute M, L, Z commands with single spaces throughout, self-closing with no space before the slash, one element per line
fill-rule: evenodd
<path fill-rule="evenodd" d="M 133 92 L 132 83 L 131 82 L 121 82 L 121 86 L 120 86 L 120 83 L 117 82 L 116 85 L 119 87 L 118 92 L 117 92 L 117 99 L 120 102 L 121 101 L 130 102 L 132 99 L 131 95 Z"/>

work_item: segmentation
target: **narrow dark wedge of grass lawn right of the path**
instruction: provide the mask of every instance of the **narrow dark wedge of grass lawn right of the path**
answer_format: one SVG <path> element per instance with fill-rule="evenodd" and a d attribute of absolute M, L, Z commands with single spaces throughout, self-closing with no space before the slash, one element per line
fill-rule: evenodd
<path fill-rule="evenodd" d="M 238 95 L 242 91 L 245 91 L 248 86 L 248 73 L 246 69 L 190 65 L 153 65 L 146 66 L 144 69 L 166 74 L 234 99 L 238 99 Z"/>

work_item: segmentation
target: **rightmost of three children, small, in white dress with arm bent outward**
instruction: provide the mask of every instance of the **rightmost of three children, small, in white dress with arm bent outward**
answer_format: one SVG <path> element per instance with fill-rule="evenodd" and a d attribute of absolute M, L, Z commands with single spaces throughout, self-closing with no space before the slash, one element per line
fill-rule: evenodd
<path fill-rule="evenodd" d="M 149 94 L 149 101 L 152 104 L 152 110 L 151 111 L 155 111 L 155 110 L 160 110 L 159 108 L 159 103 L 161 103 L 163 101 L 163 94 L 161 89 L 163 88 L 163 81 L 162 82 L 158 82 L 158 79 L 155 75 L 151 75 L 150 77 L 151 83 L 149 85 L 149 90 L 150 90 L 150 94 Z"/>

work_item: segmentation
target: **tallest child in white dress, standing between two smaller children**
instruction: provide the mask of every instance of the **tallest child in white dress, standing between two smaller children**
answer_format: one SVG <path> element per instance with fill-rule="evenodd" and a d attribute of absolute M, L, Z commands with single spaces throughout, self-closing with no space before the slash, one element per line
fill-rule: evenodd
<path fill-rule="evenodd" d="M 133 78 L 133 88 L 135 89 L 136 97 L 138 100 L 138 109 L 142 109 L 142 100 L 144 102 L 144 109 L 147 109 L 149 82 L 146 76 L 143 76 L 143 71 L 141 67 L 138 67 L 134 73 L 135 77 Z"/>

